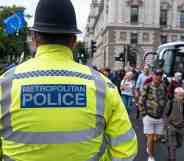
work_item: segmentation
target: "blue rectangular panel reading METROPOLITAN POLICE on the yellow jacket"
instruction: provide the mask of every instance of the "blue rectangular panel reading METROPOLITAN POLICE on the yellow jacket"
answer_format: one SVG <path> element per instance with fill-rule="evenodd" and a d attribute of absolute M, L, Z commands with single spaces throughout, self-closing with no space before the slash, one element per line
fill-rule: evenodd
<path fill-rule="evenodd" d="M 33 85 L 22 89 L 24 107 L 86 106 L 86 87 L 80 85 Z M 27 92 L 27 93 L 26 93 Z"/>

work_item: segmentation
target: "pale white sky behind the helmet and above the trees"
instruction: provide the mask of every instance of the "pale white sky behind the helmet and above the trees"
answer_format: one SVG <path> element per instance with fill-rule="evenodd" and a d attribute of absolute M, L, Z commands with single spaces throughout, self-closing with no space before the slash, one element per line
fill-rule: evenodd
<path fill-rule="evenodd" d="M 0 0 L 0 5 L 20 5 L 26 8 L 26 13 L 34 15 L 36 5 L 39 0 Z M 80 35 L 80 39 L 84 36 L 87 17 L 89 15 L 91 0 L 71 0 L 77 15 L 78 26 L 82 30 L 83 34 Z M 32 26 L 33 19 L 29 20 L 29 26 Z"/>

